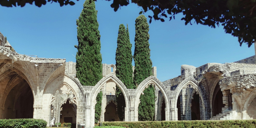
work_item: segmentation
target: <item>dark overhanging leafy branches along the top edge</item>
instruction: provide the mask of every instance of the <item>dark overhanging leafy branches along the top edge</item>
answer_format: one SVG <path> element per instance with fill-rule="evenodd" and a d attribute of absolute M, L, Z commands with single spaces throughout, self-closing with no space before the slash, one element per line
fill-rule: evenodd
<path fill-rule="evenodd" d="M 53 1 L 60 3 L 60 6 L 75 4 L 69 0 L 48 0 Z M 33 2 L 38 7 L 46 4 L 46 0 L 0 0 L 0 5 L 16 7 L 18 4 L 23 7 L 26 3 Z M 113 0 L 110 6 L 117 11 L 120 6 L 126 6 L 129 2 Z M 256 0 L 131 0 L 131 3 L 143 8 L 139 14 L 147 11 L 154 13 L 149 16 L 150 23 L 152 19 L 164 22 L 169 17 L 172 20 L 176 14 L 182 13 L 184 17 L 181 20 L 185 21 L 185 25 L 195 22 L 213 28 L 222 25 L 225 33 L 238 37 L 240 46 L 246 43 L 250 47 L 256 41 Z"/>

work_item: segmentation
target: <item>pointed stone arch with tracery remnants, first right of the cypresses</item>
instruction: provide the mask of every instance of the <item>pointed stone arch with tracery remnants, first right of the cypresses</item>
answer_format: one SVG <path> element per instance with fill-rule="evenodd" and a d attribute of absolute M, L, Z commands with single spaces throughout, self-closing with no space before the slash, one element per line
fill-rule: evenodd
<path fill-rule="evenodd" d="M 199 83 L 192 76 L 190 76 L 188 79 L 185 79 L 180 84 L 178 84 L 174 94 L 174 105 L 177 105 L 179 94 L 184 87 L 185 88 L 192 87 L 196 91 L 196 93 L 199 94 L 199 98 L 201 99 L 202 106 L 204 108 L 204 111 L 201 113 L 202 114 L 201 117 L 203 117 L 201 118 L 201 120 L 206 120 L 207 117 L 206 117 L 205 109 L 207 108 L 207 102 L 205 102 L 203 98 L 203 92 L 201 92 L 202 90 L 199 87 Z M 176 106 L 173 106 L 173 107 L 176 108 Z"/>

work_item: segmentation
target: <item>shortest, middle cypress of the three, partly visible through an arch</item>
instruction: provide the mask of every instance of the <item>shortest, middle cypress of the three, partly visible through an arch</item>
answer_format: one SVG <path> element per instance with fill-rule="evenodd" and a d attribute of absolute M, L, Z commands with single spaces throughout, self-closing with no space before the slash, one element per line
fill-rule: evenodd
<path fill-rule="evenodd" d="M 133 89 L 132 83 L 132 44 L 129 39 L 128 25 L 127 30 L 121 24 L 118 30 L 117 49 L 116 49 L 116 76 L 128 89 Z M 117 113 L 120 121 L 124 121 L 125 100 L 122 91 L 116 86 Z"/>

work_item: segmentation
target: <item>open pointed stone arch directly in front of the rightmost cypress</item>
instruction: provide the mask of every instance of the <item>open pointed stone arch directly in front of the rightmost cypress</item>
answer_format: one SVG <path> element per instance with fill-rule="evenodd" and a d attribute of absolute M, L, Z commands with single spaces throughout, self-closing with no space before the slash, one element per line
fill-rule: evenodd
<path fill-rule="evenodd" d="M 166 105 L 166 114 L 165 114 L 165 120 L 169 121 L 170 114 L 170 106 L 171 103 L 169 101 L 169 95 L 166 90 L 166 86 L 163 85 L 163 83 L 157 79 L 155 76 L 148 76 L 148 78 L 144 79 L 138 86 L 138 88 L 135 91 L 135 121 L 138 121 L 138 107 L 140 103 L 140 95 L 143 94 L 143 91 L 148 87 L 149 84 L 154 84 L 154 86 L 157 86 L 160 91 L 163 94 L 163 97 L 165 98 L 165 105 Z"/>

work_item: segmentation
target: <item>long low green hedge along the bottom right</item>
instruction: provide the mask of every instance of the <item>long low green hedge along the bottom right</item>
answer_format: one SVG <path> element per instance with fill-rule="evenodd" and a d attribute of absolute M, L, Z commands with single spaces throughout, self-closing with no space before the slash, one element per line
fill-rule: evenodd
<path fill-rule="evenodd" d="M 256 128 L 256 120 L 136 121 L 102 124 L 127 128 Z"/>

